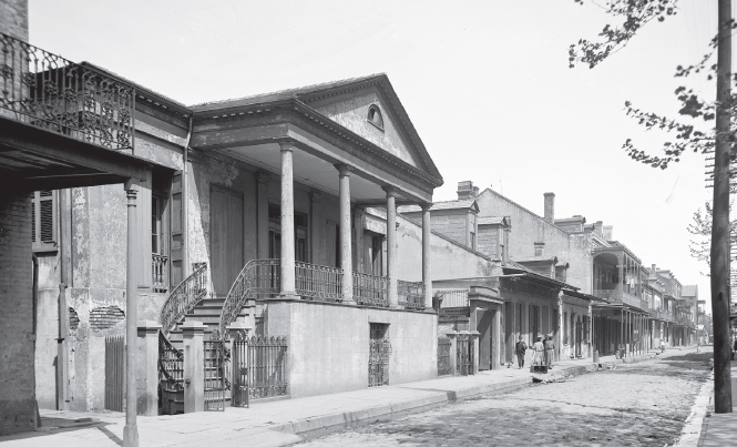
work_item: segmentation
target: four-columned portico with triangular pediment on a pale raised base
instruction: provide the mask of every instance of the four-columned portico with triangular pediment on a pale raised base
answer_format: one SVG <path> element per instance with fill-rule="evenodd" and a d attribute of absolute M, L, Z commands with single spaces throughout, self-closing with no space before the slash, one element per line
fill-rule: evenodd
<path fill-rule="evenodd" d="M 201 209 L 209 202 L 209 222 L 201 241 L 188 237 L 193 251 L 209 245 L 215 295 L 225 298 L 221 329 L 239 319 L 256 333 L 306 343 L 289 348 L 290 364 L 303 368 L 290 370 L 293 396 L 366 386 L 375 336 L 392 346 L 378 383 L 437 375 L 429 210 L 442 177 L 387 77 L 193 110 L 191 156 L 208 170 L 211 187 L 197 183 L 205 174 L 197 167 L 192 183 Z M 219 177 L 211 174 L 215 170 Z M 221 201 L 227 210 L 206 196 L 213 187 L 228 191 L 231 199 Z M 397 250 L 402 204 L 422 209 L 417 260 Z M 232 209 L 236 215 L 243 210 L 244 219 L 233 219 Z M 366 209 L 385 210 L 386 227 L 369 223 Z M 213 233 L 223 225 L 228 227 L 217 231 L 224 235 L 244 235 L 243 247 Z M 239 273 L 226 268 L 233 262 L 243 266 Z M 398 275 L 399 264 L 411 262 L 422 265 L 420 282 Z M 419 364 L 409 362 L 410 353 L 423 353 Z M 355 374 L 346 378 L 346 370 Z M 325 384 L 315 383 L 317 375 Z"/>

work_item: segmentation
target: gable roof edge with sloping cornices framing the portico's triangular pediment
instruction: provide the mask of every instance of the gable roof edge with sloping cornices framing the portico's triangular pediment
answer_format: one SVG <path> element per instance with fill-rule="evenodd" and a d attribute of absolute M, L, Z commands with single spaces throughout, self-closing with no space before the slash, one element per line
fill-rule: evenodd
<path fill-rule="evenodd" d="M 408 138 L 408 145 L 414 151 L 420 161 L 420 166 L 424 169 L 428 174 L 437 177 L 439 185 L 443 184 L 442 175 L 438 166 L 430 158 L 424 143 L 420 139 L 417 129 L 409 119 L 405 106 L 397 92 L 395 92 L 391 82 L 386 73 L 369 74 L 360 78 L 350 78 L 339 81 L 325 82 L 313 85 L 305 85 L 295 89 L 279 90 L 270 93 L 255 94 L 250 96 L 244 96 L 238 99 L 229 99 L 224 101 L 213 101 L 205 102 L 201 104 L 192 105 L 192 110 L 197 112 L 207 112 L 211 110 L 223 109 L 223 108 L 237 108 L 237 106 L 249 106 L 257 105 L 277 101 L 285 100 L 296 100 L 303 104 L 309 106 L 308 104 L 313 101 L 323 100 L 329 96 L 337 96 L 339 94 L 349 93 L 352 91 L 366 89 L 369 87 L 376 87 L 389 110 L 397 116 L 397 126 L 406 134 Z M 319 113 L 319 112 L 318 112 Z"/>

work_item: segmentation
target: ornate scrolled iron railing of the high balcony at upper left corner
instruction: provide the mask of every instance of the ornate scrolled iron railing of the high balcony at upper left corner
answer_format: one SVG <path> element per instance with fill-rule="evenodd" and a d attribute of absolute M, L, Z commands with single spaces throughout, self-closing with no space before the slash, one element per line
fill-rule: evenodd
<path fill-rule="evenodd" d="M 133 149 L 135 89 L 100 70 L 0 33 L 0 109 L 17 121 L 102 148 Z"/>

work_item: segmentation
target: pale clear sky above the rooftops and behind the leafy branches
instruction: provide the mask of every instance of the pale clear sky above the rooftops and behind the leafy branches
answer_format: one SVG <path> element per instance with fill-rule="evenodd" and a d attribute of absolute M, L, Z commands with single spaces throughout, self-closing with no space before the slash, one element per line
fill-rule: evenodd
<path fill-rule="evenodd" d="M 668 138 L 628 119 L 625 101 L 677 118 L 678 85 L 714 98 L 703 77 L 674 73 L 707 51 L 716 1 L 680 0 L 601 65 L 569 69 L 569 45 L 612 22 L 584 3 L 30 0 L 30 42 L 185 104 L 387 73 L 444 179 L 436 201 L 471 180 L 542 215 L 554 192 L 556 217 L 613 225 L 643 265 L 697 284 L 709 309 L 686 230 L 712 196 L 704 155 L 663 171 L 622 144 L 661 154 Z"/>

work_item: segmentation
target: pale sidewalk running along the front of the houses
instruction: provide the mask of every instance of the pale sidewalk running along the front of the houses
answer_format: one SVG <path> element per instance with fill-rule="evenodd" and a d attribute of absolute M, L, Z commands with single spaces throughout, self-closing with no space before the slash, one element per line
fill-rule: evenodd
<path fill-rule="evenodd" d="M 667 354 L 667 352 L 666 352 Z M 655 357 L 655 353 L 633 357 L 638 362 Z M 621 364 L 611 357 L 600 358 L 603 368 Z M 597 365 L 590 359 L 566 360 L 554 365 L 543 379 L 594 372 Z M 205 412 L 177 416 L 137 418 L 141 446 L 228 447 L 284 446 L 301 440 L 297 434 L 389 419 L 443 406 L 455 400 L 490 393 L 510 393 L 530 386 L 529 369 L 502 368 L 475 376 L 443 377 L 408 384 L 381 386 L 347 393 L 310 396 L 297 399 L 255 404 L 250 408 L 227 407 L 225 412 Z M 92 418 L 92 420 L 89 420 Z M 80 420 L 80 421 L 75 421 Z M 41 412 L 42 427 L 37 431 L 0 437 L 8 446 L 92 447 L 121 446 L 124 415 L 121 413 L 91 414 L 74 412 Z"/>

